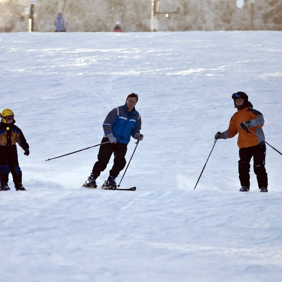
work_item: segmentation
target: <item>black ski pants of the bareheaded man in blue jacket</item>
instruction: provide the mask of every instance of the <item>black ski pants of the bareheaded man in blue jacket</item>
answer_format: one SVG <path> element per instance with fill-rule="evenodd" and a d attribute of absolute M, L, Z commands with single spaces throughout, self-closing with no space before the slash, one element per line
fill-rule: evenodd
<path fill-rule="evenodd" d="M 108 138 L 103 138 L 101 143 L 109 141 Z M 94 164 L 92 173 L 94 178 L 100 176 L 101 171 L 104 171 L 109 163 L 109 160 L 114 155 L 113 167 L 110 170 L 110 175 L 116 178 L 120 171 L 125 167 L 125 155 L 127 144 L 124 143 L 106 143 L 100 146 L 98 153 L 98 161 Z"/>

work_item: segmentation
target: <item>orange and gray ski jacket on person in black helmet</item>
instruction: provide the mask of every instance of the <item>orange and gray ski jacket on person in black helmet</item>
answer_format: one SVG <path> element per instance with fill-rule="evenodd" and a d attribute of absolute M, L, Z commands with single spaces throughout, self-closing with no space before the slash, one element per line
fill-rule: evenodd
<path fill-rule="evenodd" d="M 264 124 L 263 115 L 259 111 L 252 109 L 252 107 L 253 105 L 249 102 L 246 108 L 241 110 L 238 109 L 237 113 L 231 117 L 228 130 L 223 132 L 223 139 L 232 138 L 237 133 L 239 134 L 237 141 L 239 149 L 265 144 L 263 141 L 265 137 L 262 129 Z M 244 129 L 240 129 L 240 124 L 242 122 L 247 122 L 248 130 L 254 132 L 263 140 L 252 133 L 246 132 Z"/>

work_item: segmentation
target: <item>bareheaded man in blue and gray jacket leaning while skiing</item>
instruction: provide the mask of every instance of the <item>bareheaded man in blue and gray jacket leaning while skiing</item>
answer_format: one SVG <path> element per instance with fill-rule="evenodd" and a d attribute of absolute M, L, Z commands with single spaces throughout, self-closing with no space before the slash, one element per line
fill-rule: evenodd
<path fill-rule="evenodd" d="M 141 130 L 141 117 L 135 110 L 138 101 L 138 95 L 131 93 L 126 98 L 125 105 L 112 109 L 105 118 L 103 124 L 104 137 L 101 143 L 109 142 L 100 146 L 98 161 L 94 164 L 92 173 L 88 177 L 84 186 L 96 188 L 96 179 L 100 176 L 114 154 L 113 167 L 109 172 L 106 186 L 116 188 L 116 177 L 126 165 L 127 144 L 132 136 L 134 139 L 141 141 L 143 135 Z"/>

